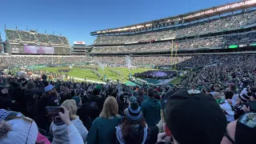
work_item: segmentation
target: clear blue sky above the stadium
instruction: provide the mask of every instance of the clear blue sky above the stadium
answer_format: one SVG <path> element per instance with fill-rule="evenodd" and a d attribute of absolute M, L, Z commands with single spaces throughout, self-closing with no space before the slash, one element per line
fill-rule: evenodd
<path fill-rule="evenodd" d="M 92 44 L 90 32 L 128 26 L 234 0 L 4 0 L 0 7 L 0 32 L 4 26 L 18 30 L 66 36 L 70 44 L 85 41 Z"/>

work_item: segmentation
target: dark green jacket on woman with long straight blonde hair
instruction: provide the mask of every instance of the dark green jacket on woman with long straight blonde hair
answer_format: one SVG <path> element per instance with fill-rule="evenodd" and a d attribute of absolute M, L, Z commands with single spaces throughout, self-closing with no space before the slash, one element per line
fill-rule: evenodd
<path fill-rule="evenodd" d="M 87 144 L 113 144 L 116 139 L 115 126 L 118 126 L 121 122 L 121 116 L 96 118 L 87 135 Z"/>

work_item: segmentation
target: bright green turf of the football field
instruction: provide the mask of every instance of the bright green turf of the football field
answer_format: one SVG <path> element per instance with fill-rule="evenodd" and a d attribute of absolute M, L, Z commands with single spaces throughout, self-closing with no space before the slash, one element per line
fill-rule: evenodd
<path fill-rule="evenodd" d="M 69 69 L 69 67 L 44 67 L 44 68 L 39 68 L 39 70 L 46 70 L 49 72 L 56 72 L 57 70 L 61 70 L 61 69 Z M 122 68 L 122 67 L 105 67 L 104 70 L 99 69 L 98 72 L 100 74 L 106 74 L 106 78 L 111 78 L 112 80 L 122 80 L 122 76 L 118 76 L 118 74 L 114 74 L 110 71 L 110 69 L 114 69 L 114 70 L 118 70 L 123 74 L 124 77 L 124 82 L 128 81 L 128 77 L 129 77 L 129 70 L 128 68 Z M 141 68 L 136 68 L 136 69 L 132 69 L 130 70 L 130 74 L 135 74 L 135 73 L 140 73 L 143 71 L 147 71 L 150 69 L 141 69 Z M 64 73 L 62 73 L 64 74 Z M 102 82 L 100 79 L 98 79 L 98 77 L 93 74 L 90 70 L 82 70 L 80 68 L 77 67 L 73 67 L 72 70 L 70 70 L 69 73 L 67 73 L 68 76 L 70 77 L 74 77 L 74 78 L 86 78 L 87 80 L 92 80 L 92 81 L 96 81 L 96 82 Z"/>

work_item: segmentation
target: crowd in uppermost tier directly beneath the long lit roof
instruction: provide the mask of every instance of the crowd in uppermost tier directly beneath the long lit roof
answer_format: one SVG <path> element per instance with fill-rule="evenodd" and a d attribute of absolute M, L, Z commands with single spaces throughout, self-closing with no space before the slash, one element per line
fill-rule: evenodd
<path fill-rule="evenodd" d="M 222 30 L 240 28 L 255 22 L 255 10 L 248 10 L 238 14 L 229 14 L 220 18 L 212 18 L 202 22 L 178 25 L 167 29 L 154 30 L 139 34 L 99 36 L 94 45 L 124 44 L 126 42 L 142 42 L 160 38 L 175 38 L 197 34 L 213 33 Z"/>

